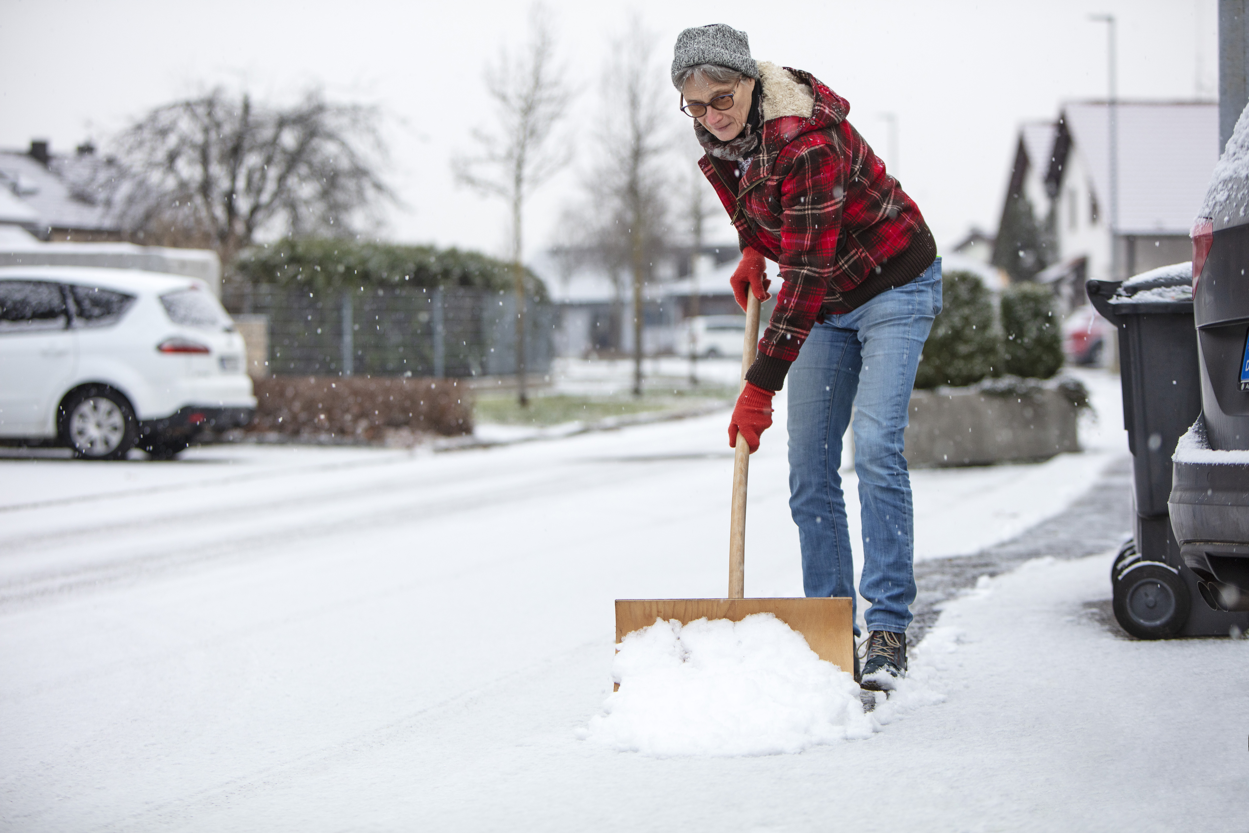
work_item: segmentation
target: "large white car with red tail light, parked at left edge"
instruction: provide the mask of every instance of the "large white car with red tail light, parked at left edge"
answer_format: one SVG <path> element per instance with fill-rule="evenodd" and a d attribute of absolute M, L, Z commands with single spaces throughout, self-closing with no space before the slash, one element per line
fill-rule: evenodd
<path fill-rule="evenodd" d="M 169 458 L 256 411 L 234 322 L 192 277 L 0 269 L 0 442 Z"/>

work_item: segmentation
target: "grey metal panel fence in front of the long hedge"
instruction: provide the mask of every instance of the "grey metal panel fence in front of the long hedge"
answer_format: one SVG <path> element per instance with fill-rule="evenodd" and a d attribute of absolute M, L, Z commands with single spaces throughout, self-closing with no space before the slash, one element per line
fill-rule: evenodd
<path fill-rule="evenodd" d="M 491 290 L 363 286 L 317 292 L 251 286 L 245 312 L 269 318 L 275 375 L 496 376 L 516 372 L 516 296 Z M 545 373 L 557 315 L 526 303 L 526 365 Z"/>

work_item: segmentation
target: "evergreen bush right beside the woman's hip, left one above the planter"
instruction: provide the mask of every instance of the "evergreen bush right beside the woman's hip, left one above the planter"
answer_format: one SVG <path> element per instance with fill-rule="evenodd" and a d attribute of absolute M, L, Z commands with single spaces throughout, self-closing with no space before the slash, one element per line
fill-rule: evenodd
<path fill-rule="evenodd" d="M 1000 373 L 1002 338 L 993 326 L 993 296 L 974 272 L 942 277 L 942 312 L 933 322 L 916 387 L 974 385 Z"/>

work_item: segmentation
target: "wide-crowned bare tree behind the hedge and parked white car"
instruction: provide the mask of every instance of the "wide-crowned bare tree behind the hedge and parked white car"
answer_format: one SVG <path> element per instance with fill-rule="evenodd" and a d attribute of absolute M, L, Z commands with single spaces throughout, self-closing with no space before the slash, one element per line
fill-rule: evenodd
<path fill-rule="evenodd" d="M 216 89 L 156 107 L 119 136 L 110 201 L 132 237 L 209 245 L 229 277 L 261 230 L 345 235 L 378 197 L 392 199 L 377 119 L 320 90 L 279 107 Z"/>

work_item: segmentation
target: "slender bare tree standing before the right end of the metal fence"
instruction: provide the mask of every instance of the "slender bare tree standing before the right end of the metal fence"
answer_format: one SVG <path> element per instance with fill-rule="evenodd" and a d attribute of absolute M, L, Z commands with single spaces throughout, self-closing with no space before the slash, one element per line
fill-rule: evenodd
<path fill-rule="evenodd" d="M 483 194 L 502 197 L 511 209 L 512 270 L 516 276 L 516 380 L 520 403 L 528 405 L 525 381 L 525 201 L 568 160 L 567 147 L 548 147 L 563 119 L 570 92 L 555 65 L 550 15 L 542 5 L 530 11 L 530 39 L 520 57 L 507 49 L 486 69 L 495 102 L 496 130 L 475 130 L 476 156 L 453 160 L 456 179 Z"/>

